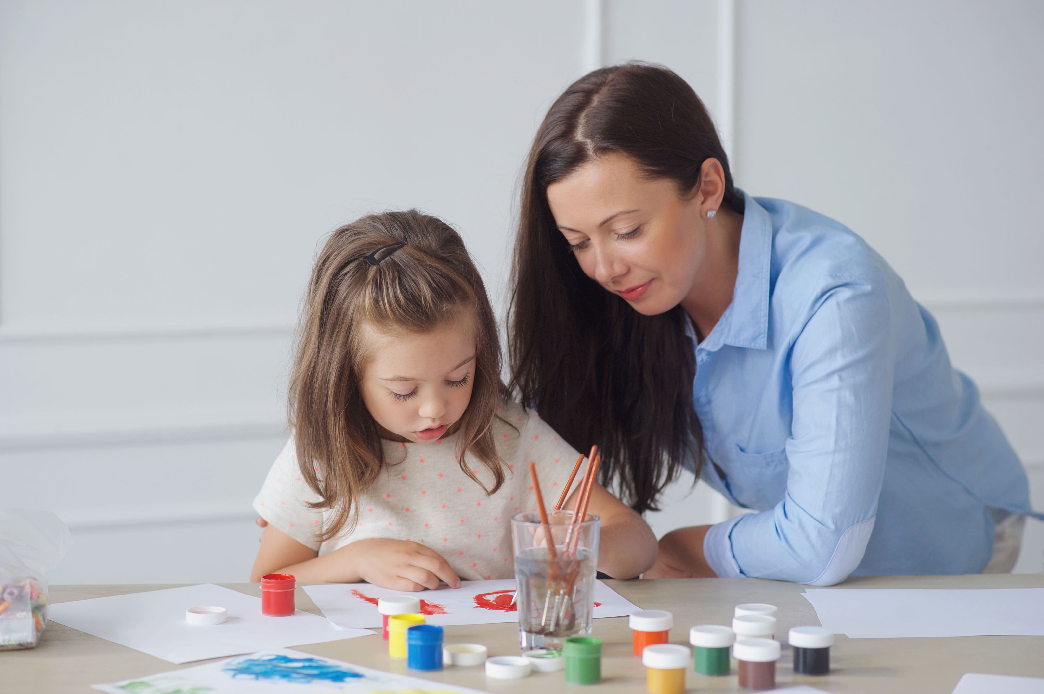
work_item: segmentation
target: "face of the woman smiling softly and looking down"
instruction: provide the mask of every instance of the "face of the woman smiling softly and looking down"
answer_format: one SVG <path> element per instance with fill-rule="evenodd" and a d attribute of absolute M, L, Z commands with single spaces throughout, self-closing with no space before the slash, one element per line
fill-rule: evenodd
<path fill-rule="evenodd" d="M 584 273 L 645 315 L 669 311 L 695 284 L 707 253 L 704 199 L 681 199 L 673 181 L 645 176 L 622 154 L 547 187 Z"/>

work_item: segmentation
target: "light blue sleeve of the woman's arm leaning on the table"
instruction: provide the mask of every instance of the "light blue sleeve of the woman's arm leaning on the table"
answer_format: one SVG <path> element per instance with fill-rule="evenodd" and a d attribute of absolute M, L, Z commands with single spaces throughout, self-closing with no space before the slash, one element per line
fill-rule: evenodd
<path fill-rule="evenodd" d="M 786 493 L 711 526 L 703 551 L 719 576 L 832 585 L 865 551 L 888 452 L 892 315 L 883 279 L 829 280 L 790 352 Z"/>

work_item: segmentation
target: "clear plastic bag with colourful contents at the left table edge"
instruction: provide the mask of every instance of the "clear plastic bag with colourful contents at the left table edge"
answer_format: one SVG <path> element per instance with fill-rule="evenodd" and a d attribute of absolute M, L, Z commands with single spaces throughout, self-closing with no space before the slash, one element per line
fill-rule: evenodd
<path fill-rule="evenodd" d="M 47 626 L 48 571 L 72 545 L 51 511 L 0 509 L 0 650 L 33 648 Z"/>

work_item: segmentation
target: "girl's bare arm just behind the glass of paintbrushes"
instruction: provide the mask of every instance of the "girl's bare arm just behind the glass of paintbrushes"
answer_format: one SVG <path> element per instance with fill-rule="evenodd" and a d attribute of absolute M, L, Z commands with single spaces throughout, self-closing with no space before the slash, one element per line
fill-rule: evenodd
<path fill-rule="evenodd" d="M 579 485 L 565 508 L 576 508 Z M 656 535 L 642 517 L 611 495 L 600 484 L 591 485 L 588 512 L 601 519 L 598 540 L 598 571 L 613 578 L 637 578 L 657 557 Z"/>

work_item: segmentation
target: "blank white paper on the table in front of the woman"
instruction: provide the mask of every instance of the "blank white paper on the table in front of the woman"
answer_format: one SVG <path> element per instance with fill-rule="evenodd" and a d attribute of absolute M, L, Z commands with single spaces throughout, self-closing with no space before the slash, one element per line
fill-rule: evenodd
<path fill-rule="evenodd" d="M 808 589 L 820 622 L 850 639 L 1044 636 L 1044 588 Z"/>

